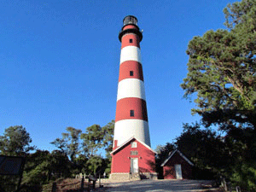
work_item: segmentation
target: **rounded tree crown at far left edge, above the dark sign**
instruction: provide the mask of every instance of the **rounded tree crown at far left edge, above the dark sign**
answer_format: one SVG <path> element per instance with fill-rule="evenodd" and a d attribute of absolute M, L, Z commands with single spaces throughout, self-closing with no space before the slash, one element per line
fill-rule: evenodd
<path fill-rule="evenodd" d="M 30 146 L 32 138 L 22 125 L 10 126 L 0 136 L 0 154 L 24 155 L 35 147 Z"/>

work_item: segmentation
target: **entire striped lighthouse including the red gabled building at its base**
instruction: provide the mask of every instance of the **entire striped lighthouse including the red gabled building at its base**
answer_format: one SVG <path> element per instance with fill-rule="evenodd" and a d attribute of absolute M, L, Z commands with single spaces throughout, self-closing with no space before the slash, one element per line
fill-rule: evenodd
<path fill-rule="evenodd" d="M 119 32 L 121 53 L 113 134 L 111 178 L 155 178 L 154 150 L 150 147 L 148 113 L 137 18 L 128 15 Z"/>

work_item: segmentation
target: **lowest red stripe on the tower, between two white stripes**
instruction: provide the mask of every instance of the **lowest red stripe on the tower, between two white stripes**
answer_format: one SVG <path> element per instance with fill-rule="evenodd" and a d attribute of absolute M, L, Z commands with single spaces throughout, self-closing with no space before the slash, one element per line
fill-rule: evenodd
<path fill-rule="evenodd" d="M 131 110 L 134 110 L 134 117 L 130 115 Z M 120 99 L 116 103 L 115 122 L 123 119 L 142 119 L 148 121 L 146 102 L 136 97 Z"/>

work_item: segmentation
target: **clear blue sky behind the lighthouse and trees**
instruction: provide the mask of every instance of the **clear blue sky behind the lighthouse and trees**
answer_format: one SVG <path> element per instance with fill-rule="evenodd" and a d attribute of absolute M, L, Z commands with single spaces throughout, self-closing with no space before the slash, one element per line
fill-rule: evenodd
<path fill-rule="evenodd" d="M 183 99 L 189 40 L 224 28 L 225 0 L 3 0 L 0 6 L 0 135 L 23 125 L 40 149 L 67 126 L 115 116 L 122 20 L 143 29 L 143 74 L 152 148 L 179 136 L 192 116 Z"/>

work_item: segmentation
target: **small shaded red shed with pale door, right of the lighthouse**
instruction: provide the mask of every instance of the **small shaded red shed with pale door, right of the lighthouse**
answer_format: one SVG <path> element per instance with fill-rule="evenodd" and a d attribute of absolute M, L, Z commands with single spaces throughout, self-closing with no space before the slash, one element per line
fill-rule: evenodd
<path fill-rule="evenodd" d="M 164 179 L 191 179 L 194 164 L 179 150 L 174 150 L 161 165 Z"/>

